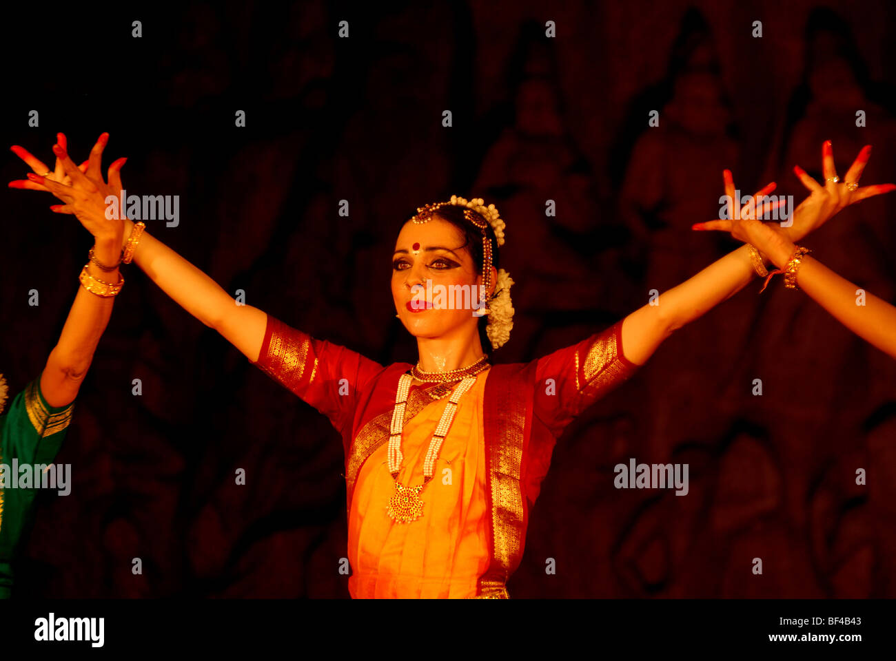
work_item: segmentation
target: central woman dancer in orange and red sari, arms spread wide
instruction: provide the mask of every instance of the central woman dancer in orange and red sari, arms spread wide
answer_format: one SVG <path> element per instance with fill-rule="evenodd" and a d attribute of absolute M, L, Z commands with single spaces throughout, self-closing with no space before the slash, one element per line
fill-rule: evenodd
<path fill-rule="evenodd" d="M 13 185 L 63 199 L 90 181 L 99 188 L 99 167 L 82 176 L 60 145 L 54 151 L 71 186 L 32 174 Z M 113 169 L 108 193 L 118 195 Z M 841 206 L 809 198 L 791 227 L 775 231 L 799 240 Z M 513 279 L 499 263 L 505 224 L 494 204 L 452 196 L 401 225 L 392 299 L 417 339 L 418 360 L 380 365 L 236 305 L 142 223 L 123 222 L 132 245 L 139 237 L 134 262 L 159 288 L 340 433 L 352 597 L 508 597 L 506 582 L 521 561 L 530 511 L 564 428 L 676 329 L 744 288 L 759 259 L 742 246 L 571 347 L 493 365 L 493 351 L 513 328 Z M 461 304 L 451 305 L 449 295 L 446 305 L 446 291 Z"/>

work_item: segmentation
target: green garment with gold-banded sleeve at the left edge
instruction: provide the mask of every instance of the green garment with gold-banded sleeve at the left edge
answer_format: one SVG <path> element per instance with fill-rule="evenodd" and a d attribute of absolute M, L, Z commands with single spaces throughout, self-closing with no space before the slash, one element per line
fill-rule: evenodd
<path fill-rule="evenodd" d="M 51 464 L 65 439 L 74 403 L 51 407 L 40 391 L 40 376 L 30 382 L 0 416 L 0 598 L 13 587 L 13 559 L 22 531 L 34 514 L 34 488 L 8 488 L 13 459 L 18 464 Z"/>

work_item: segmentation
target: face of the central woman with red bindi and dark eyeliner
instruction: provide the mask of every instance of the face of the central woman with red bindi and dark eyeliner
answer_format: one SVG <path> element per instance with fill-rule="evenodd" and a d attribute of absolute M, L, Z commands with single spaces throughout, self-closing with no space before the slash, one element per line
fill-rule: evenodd
<path fill-rule="evenodd" d="M 443 337 L 467 324 L 475 332 L 482 279 L 463 242 L 457 227 L 437 217 L 401 227 L 392 255 L 392 300 L 414 337 Z"/>

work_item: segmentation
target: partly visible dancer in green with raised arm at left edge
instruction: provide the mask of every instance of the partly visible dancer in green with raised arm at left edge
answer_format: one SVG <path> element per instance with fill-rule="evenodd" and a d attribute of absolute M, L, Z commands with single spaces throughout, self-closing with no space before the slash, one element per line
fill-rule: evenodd
<path fill-rule="evenodd" d="M 58 141 L 65 147 L 65 135 L 59 133 Z M 47 467 L 65 439 L 74 399 L 106 330 L 115 296 L 125 284 L 118 272 L 124 228 L 105 218 L 105 204 L 90 194 L 92 185 L 85 183 L 75 191 L 58 159 L 56 169 L 49 170 L 21 147 L 13 147 L 13 151 L 42 173 L 44 181 L 73 191 L 65 196 L 65 211 L 73 213 L 96 241 L 79 276 L 81 288 L 56 347 L 43 371 L 13 397 L 8 408 L 4 406 L 9 400 L 8 386 L 0 374 L 0 598 L 14 594 L 14 562 L 34 517 L 37 482 L 47 479 Z M 90 159 L 99 164 L 101 151 L 94 150 Z M 22 481 L 22 475 L 30 476 L 28 482 Z"/>

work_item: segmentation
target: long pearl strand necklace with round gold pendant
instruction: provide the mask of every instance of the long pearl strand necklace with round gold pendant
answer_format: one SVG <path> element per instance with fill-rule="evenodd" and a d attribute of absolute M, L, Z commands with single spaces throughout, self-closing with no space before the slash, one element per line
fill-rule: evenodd
<path fill-rule="evenodd" d="M 484 356 L 483 356 L 484 357 Z M 401 468 L 401 460 L 404 459 L 401 454 L 401 432 L 404 429 L 404 410 L 408 403 L 408 393 L 410 391 L 410 382 L 414 380 L 411 373 L 401 374 L 398 380 L 398 391 L 395 393 L 395 408 L 392 409 L 392 425 L 389 429 L 389 472 L 392 473 L 392 479 L 395 481 L 395 492 L 389 499 L 388 515 L 398 523 L 410 523 L 420 518 L 423 514 L 423 500 L 420 493 L 423 488 L 429 484 L 435 473 L 435 459 L 438 457 L 439 449 L 448 435 L 454 421 L 454 414 L 457 413 L 458 402 L 466 391 L 469 391 L 473 383 L 476 382 L 476 374 L 482 372 L 488 367 L 487 363 L 483 363 L 480 359 L 474 365 L 465 368 L 465 370 L 475 369 L 475 373 L 468 373 L 457 388 L 452 392 L 448 403 L 445 405 L 439 424 L 435 427 L 435 434 L 429 442 L 429 449 L 426 451 L 426 459 L 423 462 L 423 484 L 417 486 L 405 486 L 398 481 L 398 473 Z M 457 372 L 458 370 L 455 370 Z"/>

